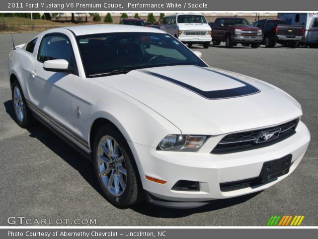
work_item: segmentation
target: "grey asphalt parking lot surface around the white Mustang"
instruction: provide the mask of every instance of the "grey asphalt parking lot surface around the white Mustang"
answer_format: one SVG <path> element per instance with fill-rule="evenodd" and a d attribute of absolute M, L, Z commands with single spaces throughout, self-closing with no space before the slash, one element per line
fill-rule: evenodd
<path fill-rule="evenodd" d="M 21 44 L 34 35 L 13 36 Z M 147 203 L 112 206 L 101 196 L 88 161 L 44 126 L 22 129 L 14 122 L 6 63 L 11 47 L 11 35 L 0 35 L 0 226 L 8 226 L 11 216 L 53 223 L 96 219 L 96 226 L 265 226 L 271 215 L 304 215 L 302 226 L 318 226 L 318 49 L 193 45 L 211 67 L 261 79 L 296 98 L 312 140 L 298 168 L 270 189 L 172 210 Z"/>

